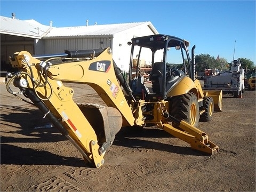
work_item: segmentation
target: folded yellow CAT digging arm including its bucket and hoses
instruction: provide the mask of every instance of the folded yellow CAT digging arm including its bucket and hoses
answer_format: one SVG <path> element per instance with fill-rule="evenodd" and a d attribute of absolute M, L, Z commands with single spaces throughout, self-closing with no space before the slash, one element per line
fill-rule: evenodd
<path fill-rule="evenodd" d="M 116 79 L 109 50 L 88 61 L 56 65 L 33 58 L 26 51 L 15 53 L 10 61 L 19 69 L 10 81 L 95 167 L 104 163 L 105 151 L 121 127 L 134 125 L 135 118 Z M 74 90 L 62 82 L 91 85 L 108 107 L 94 105 L 85 110 L 73 101 Z M 9 87 L 7 91 L 11 92 Z"/>

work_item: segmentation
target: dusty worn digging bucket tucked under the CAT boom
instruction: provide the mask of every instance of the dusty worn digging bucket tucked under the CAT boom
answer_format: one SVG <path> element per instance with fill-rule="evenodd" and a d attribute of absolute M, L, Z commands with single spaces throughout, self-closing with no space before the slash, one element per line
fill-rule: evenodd
<path fill-rule="evenodd" d="M 123 118 L 113 107 L 98 104 L 77 103 L 86 119 L 97 134 L 99 142 L 113 143 L 116 133 L 121 129 Z"/>

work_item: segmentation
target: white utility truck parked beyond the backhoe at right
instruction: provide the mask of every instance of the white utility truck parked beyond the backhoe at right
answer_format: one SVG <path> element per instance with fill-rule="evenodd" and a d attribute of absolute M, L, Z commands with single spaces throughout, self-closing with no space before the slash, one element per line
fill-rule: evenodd
<path fill-rule="evenodd" d="M 204 89 L 222 90 L 223 94 L 242 98 L 244 93 L 244 69 L 239 59 L 231 62 L 230 70 L 221 71 L 218 75 L 204 76 Z"/>

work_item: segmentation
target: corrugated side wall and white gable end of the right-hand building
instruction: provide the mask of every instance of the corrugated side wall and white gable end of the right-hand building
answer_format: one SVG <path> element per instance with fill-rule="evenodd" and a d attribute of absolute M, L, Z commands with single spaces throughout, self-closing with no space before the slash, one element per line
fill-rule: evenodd
<path fill-rule="evenodd" d="M 85 50 L 85 49 L 104 49 L 111 47 L 113 59 L 121 70 L 129 71 L 131 47 L 127 42 L 135 36 L 153 35 L 153 31 L 148 24 L 139 25 L 119 33 L 109 35 L 109 37 L 56 37 L 55 39 L 44 40 L 44 54 L 63 53 L 65 50 Z"/>

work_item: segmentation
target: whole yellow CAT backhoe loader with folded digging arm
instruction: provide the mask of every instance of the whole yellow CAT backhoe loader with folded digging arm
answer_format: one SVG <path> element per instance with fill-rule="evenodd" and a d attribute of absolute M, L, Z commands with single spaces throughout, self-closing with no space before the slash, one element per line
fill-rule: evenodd
<path fill-rule="evenodd" d="M 22 99 L 19 94 L 29 98 L 32 102 L 25 101 L 38 107 L 44 117 L 73 143 L 85 161 L 95 167 L 103 165 L 106 150 L 124 126 L 154 124 L 188 142 L 192 149 L 216 154 L 219 147 L 195 127 L 199 114 L 204 121 L 211 119 L 215 104 L 214 99 L 202 91 L 199 82 L 189 77 L 193 67 L 189 67 L 188 42 L 167 35 L 133 38 L 129 43 L 132 44 L 131 63 L 134 47 L 140 46 L 140 42 L 148 44 L 154 53 L 162 50 L 161 64 L 156 64 L 154 54 L 151 58 L 150 82 L 153 87 L 140 81 L 139 70 L 133 76 L 132 67 L 127 82 L 108 47 L 52 55 L 32 56 L 27 51 L 14 53 L 10 62 L 18 72 L 7 74 L 6 89 L 19 99 Z M 180 50 L 183 70 L 167 67 L 166 52 L 170 48 Z M 140 53 L 138 61 L 142 56 Z M 90 85 L 106 106 L 75 103 L 74 90 L 64 82 Z M 14 92 L 13 85 L 20 91 Z M 220 98 L 217 106 L 221 110 L 221 94 L 214 97 Z"/>

